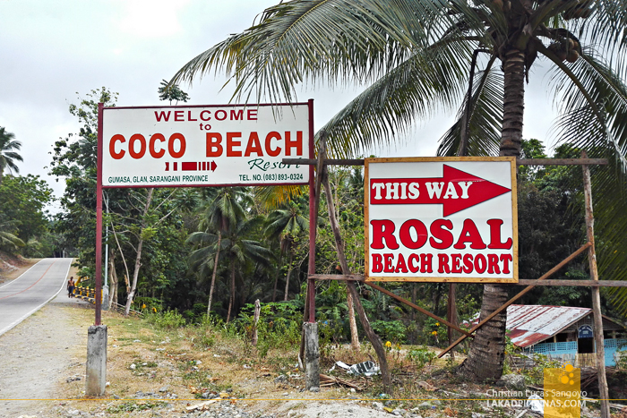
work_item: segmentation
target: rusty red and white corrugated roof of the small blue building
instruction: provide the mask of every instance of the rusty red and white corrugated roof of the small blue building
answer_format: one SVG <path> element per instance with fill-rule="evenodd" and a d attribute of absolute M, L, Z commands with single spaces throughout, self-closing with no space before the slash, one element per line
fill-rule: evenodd
<path fill-rule="evenodd" d="M 589 308 L 545 305 L 510 305 L 507 308 L 508 336 L 520 347 L 534 345 L 590 313 Z"/>

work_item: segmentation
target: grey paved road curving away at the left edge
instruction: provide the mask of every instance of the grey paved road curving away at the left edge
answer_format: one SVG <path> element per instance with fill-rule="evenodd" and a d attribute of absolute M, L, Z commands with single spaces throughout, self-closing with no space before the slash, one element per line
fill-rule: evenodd
<path fill-rule="evenodd" d="M 0 336 L 65 291 L 72 259 L 43 259 L 0 286 Z"/>

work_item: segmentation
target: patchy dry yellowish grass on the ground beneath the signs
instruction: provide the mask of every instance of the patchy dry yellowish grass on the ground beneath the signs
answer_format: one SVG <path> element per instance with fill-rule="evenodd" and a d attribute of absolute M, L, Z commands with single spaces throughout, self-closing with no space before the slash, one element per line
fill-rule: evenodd
<path fill-rule="evenodd" d="M 93 311 L 76 310 L 73 315 L 77 321 L 90 323 L 93 320 Z M 120 417 L 135 416 L 139 412 L 123 414 L 115 408 L 128 405 L 136 407 L 140 403 L 145 407 L 158 405 L 157 399 L 136 400 L 136 394 L 142 392 L 158 397 L 176 394 L 178 401 L 167 400 L 175 405 L 175 411 L 180 414 L 185 412 L 186 405 L 200 402 L 202 394 L 206 393 L 237 398 L 238 402 L 247 405 L 249 411 L 263 409 L 268 412 L 285 405 L 285 399 L 372 399 L 382 393 L 379 377 L 356 378 L 338 369 L 329 372 L 338 360 L 348 364 L 376 361 L 374 350 L 367 343 L 362 344 L 357 352 L 348 345 L 334 346 L 321 359 L 322 373 L 349 380 L 363 388 L 362 391 L 352 392 L 350 388 L 331 387 L 324 388 L 320 393 L 311 393 L 303 391 L 305 378 L 296 368 L 297 346 L 282 350 L 271 349 L 265 357 L 261 357 L 259 351 L 245 339 L 234 337 L 222 326 L 156 328 L 147 320 L 125 318 L 106 311 L 103 311 L 103 323 L 108 327 L 107 380 L 110 385 L 107 387 L 107 399 L 86 402 L 84 380 L 73 381 L 64 386 L 64 397 L 72 399 L 67 401 L 65 408 L 89 410 L 94 414 L 102 411 L 116 412 L 115 416 Z M 438 359 L 418 370 L 416 364 L 407 358 L 407 352 L 411 348 L 393 348 L 388 354 L 388 363 L 398 390 L 396 397 L 434 397 L 433 392 L 418 384 L 422 380 L 430 382 L 434 387 L 454 390 L 458 382 L 448 378 L 432 380 L 429 377 L 433 371 L 446 368 L 450 363 Z M 73 366 L 71 374 L 84 374 L 85 355 L 84 350 L 73 353 L 79 360 Z M 134 368 L 132 364 L 135 365 Z M 279 375 L 286 375 L 287 379 L 275 382 Z M 165 391 L 159 392 L 159 389 L 164 388 Z M 477 391 L 481 390 L 477 388 Z M 114 400 L 113 397 L 120 399 Z M 422 401 L 406 402 L 405 405 L 407 407 L 420 402 Z"/>

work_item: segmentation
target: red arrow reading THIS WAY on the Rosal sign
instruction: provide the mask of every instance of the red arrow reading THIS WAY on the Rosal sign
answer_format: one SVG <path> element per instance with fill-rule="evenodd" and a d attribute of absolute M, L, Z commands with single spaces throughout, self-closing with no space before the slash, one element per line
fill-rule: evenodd
<path fill-rule="evenodd" d="M 442 204 L 445 217 L 506 192 L 511 189 L 446 164 L 441 178 L 370 179 L 371 205 Z"/>

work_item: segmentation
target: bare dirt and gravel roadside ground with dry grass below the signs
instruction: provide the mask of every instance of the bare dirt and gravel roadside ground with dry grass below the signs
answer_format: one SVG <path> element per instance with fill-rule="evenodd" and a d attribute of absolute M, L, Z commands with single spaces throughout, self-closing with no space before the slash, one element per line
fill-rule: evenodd
<path fill-rule="evenodd" d="M 13 277 L 19 273 L 13 272 Z M 491 387 L 457 381 L 448 373 L 429 377 L 405 373 L 405 355 L 400 351 L 388 357 L 395 368 L 398 392 L 394 399 L 381 393 L 380 379 L 356 379 L 324 370 L 330 364 L 323 364 L 323 373 L 356 389 L 334 384 L 309 392 L 304 389 L 303 373 L 296 368 L 294 349 L 262 357 L 259 348 L 220 337 L 216 328 L 155 328 L 107 311 L 102 318 L 108 327 L 105 397 L 86 399 L 84 395 L 87 328 L 94 320 L 93 308 L 61 293 L 0 336 L 0 417 L 242 416 L 228 411 L 233 406 L 255 417 L 537 416 L 489 408 L 484 400 L 457 401 L 456 397 L 485 399 L 482 394 Z M 367 351 L 354 354 L 348 348 L 335 348 L 333 355 L 345 363 L 368 360 Z M 434 369 L 442 368 L 444 362 L 439 362 Z M 199 405 L 212 397 L 222 400 L 208 405 L 205 414 Z M 587 411 L 582 416 L 595 415 Z"/>

